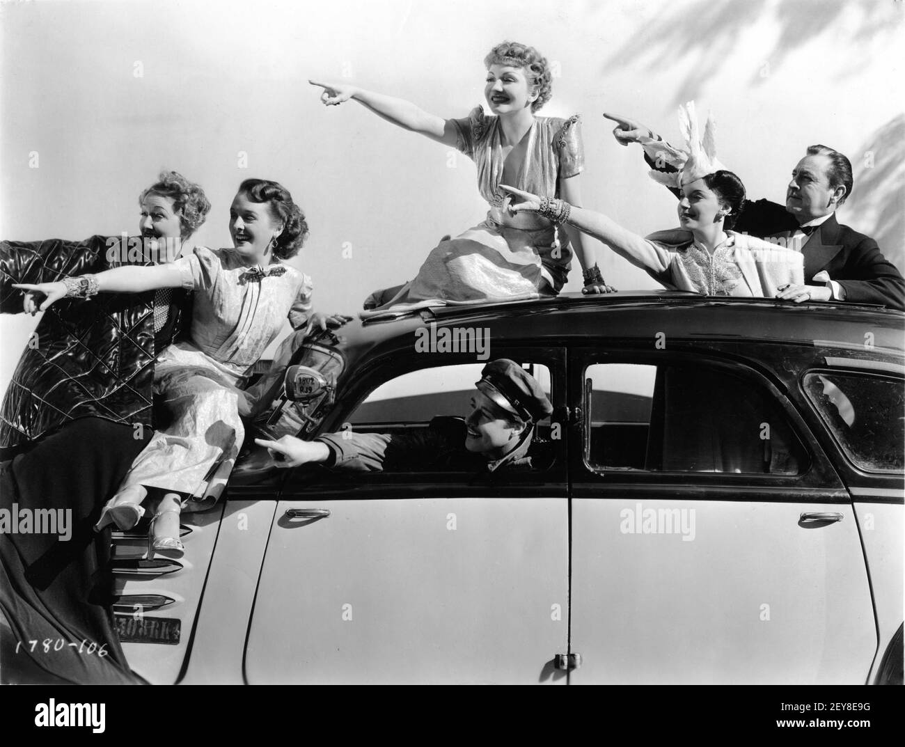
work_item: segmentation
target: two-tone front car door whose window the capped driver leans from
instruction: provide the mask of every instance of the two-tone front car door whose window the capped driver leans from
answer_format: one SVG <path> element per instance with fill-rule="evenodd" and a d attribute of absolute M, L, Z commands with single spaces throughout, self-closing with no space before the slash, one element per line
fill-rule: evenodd
<path fill-rule="evenodd" d="M 495 350 L 565 405 L 564 350 Z M 341 396 L 337 430 L 465 415 L 482 364 L 395 356 Z M 360 404 L 356 404 L 360 403 Z M 554 426 L 556 433 L 553 434 Z M 557 424 L 542 424 L 559 436 Z M 565 433 L 552 463 L 495 474 L 300 469 L 284 485 L 252 612 L 249 683 L 565 682 Z"/>

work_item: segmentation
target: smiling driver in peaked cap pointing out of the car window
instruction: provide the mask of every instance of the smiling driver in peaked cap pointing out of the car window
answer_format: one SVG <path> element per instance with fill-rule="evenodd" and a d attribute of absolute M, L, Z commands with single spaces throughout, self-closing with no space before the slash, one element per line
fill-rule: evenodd
<path fill-rule="evenodd" d="M 518 363 L 491 360 L 475 384 L 472 412 L 434 417 L 430 427 L 411 434 L 330 433 L 313 441 L 282 436 L 256 438 L 276 464 L 296 467 L 319 462 L 337 469 L 379 472 L 530 469 L 538 456 L 534 425 L 553 412 L 538 382 Z"/>

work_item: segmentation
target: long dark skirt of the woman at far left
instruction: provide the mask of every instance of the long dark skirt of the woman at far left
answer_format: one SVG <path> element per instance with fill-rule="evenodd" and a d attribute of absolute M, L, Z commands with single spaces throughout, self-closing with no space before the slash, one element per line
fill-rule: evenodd
<path fill-rule="evenodd" d="M 15 508 L 19 516 L 71 510 L 68 541 L 60 539 L 60 527 L 55 534 L 0 537 L 0 608 L 9 626 L 0 640 L 5 683 L 143 682 L 129 670 L 113 625 L 110 529 L 92 530 L 151 433 L 134 436 L 129 426 L 81 418 L 0 470 L 0 508 Z"/>

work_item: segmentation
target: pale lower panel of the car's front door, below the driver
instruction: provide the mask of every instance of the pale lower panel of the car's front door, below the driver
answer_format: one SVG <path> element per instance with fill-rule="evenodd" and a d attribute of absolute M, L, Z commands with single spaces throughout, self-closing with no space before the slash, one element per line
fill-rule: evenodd
<path fill-rule="evenodd" d="M 248 682 L 565 683 L 567 520 L 565 498 L 281 501 Z"/>

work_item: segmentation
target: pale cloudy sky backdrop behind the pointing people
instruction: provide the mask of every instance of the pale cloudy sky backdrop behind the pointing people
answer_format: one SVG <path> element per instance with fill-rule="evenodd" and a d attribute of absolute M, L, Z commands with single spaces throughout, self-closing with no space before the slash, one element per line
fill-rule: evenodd
<path fill-rule="evenodd" d="M 378 120 L 325 108 L 309 78 L 391 93 L 447 117 L 482 101 L 482 60 L 511 39 L 558 73 L 541 115 L 584 118 L 585 205 L 639 233 L 674 201 L 605 110 L 676 139 L 677 104 L 718 120 L 719 157 L 752 197 L 782 201 L 805 146 L 852 158 L 843 223 L 900 268 L 905 207 L 903 14 L 896 0 L 345 0 L 0 5 L 0 236 L 135 233 L 138 193 L 161 168 L 213 203 L 199 243 L 229 245 L 247 177 L 289 187 L 310 242 L 292 263 L 323 311 L 356 311 L 417 271 L 444 234 L 486 212 L 471 161 Z M 247 168 L 243 168 L 242 154 Z M 35 158 L 36 157 L 36 158 Z M 37 167 L 37 168 L 34 168 Z M 344 258 L 351 254 L 349 258 Z M 350 250 L 350 252 L 349 252 Z M 608 282 L 655 287 L 597 244 Z M 573 269 L 567 290 L 580 288 Z M 36 320 L 0 318 L 0 390 Z"/>

